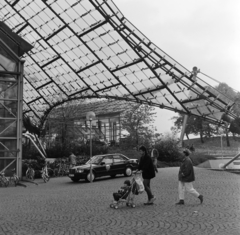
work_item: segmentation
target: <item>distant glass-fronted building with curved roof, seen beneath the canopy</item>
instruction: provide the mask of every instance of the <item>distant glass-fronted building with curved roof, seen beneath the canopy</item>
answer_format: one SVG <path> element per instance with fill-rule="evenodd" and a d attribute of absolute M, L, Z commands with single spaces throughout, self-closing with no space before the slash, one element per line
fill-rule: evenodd
<path fill-rule="evenodd" d="M 90 123 L 86 113 L 93 111 L 96 118 L 92 120 L 92 139 L 106 143 L 118 143 L 121 138 L 121 120 L 124 113 L 137 107 L 138 104 L 122 100 L 100 100 L 96 102 L 68 103 L 54 109 L 47 119 L 46 140 L 78 140 L 87 142 L 90 139 Z"/>

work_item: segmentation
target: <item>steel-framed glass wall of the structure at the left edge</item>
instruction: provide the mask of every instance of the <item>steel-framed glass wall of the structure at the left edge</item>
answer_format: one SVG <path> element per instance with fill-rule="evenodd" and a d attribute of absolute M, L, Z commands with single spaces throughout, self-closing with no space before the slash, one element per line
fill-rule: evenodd
<path fill-rule="evenodd" d="M 21 176 L 22 62 L 0 39 L 0 172 Z"/>

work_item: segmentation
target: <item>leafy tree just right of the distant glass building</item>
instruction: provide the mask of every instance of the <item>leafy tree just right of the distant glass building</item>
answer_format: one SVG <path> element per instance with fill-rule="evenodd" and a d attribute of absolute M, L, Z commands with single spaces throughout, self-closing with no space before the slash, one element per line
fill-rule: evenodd
<path fill-rule="evenodd" d="M 150 145 L 154 137 L 154 129 L 151 125 L 156 117 L 155 108 L 142 104 L 132 110 L 126 111 L 122 120 L 122 130 L 129 133 L 129 141 L 132 145 L 140 143 Z"/>

